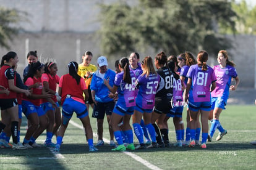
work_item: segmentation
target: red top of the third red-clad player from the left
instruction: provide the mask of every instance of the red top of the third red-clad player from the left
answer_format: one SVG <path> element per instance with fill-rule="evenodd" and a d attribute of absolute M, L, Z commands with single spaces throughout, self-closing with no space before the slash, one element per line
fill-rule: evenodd
<path fill-rule="evenodd" d="M 49 84 L 49 89 L 56 91 L 57 83 L 59 83 L 59 76 L 58 75 L 51 76 L 49 73 L 43 73 L 43 75 L 41 76 L 41 81 L 42 83 L 44 81 L 47 81 Z M 53 99 L 55 103 L 57 102 L 56 95 L 54 95 L 54 97 L 51 99 Z M 40 103 L 46 103 L 46 102 L 49 102 L 49 101 L 45 99 L 40 99 Z"/>

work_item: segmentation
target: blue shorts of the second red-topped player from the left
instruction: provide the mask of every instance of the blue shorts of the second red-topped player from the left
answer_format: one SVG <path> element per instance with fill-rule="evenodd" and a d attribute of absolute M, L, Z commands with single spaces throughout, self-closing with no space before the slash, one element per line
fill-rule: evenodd
<path fill-rule="evenodd" d="M 22 100 L 22 111 L 26 117 L 31 113 L 37 113 L 38 116 L 45 115 L 45 111 L 39 106 L 35 106 L 32 102 Z"/>

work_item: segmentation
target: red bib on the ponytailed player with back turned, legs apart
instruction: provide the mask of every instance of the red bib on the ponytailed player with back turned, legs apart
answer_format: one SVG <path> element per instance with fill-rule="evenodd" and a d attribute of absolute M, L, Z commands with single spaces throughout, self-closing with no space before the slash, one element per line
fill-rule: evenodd
<path fill-rule="evenodd" d="M 77 84 L 77 81 L 69 74 L 63 75 L 59 80 L 59 87 L 62 88 L 61 104 L 63 104 L 68 94 L 72 99 L 85 103 L 83 90 L 87 89 L 87 86 L 85 85 L 83 78 L 80 78 L 80 84 Z"/>

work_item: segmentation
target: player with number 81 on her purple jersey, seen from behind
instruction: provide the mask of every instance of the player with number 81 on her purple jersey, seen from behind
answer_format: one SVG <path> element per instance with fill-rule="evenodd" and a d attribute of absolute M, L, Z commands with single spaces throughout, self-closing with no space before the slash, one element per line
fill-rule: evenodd
<path fill-rule="evenodd" d="M 197 126 L 198 111 L 201 114 L 202 142 L 201 147 L 206 148 L 208 137 L 208 116 L 211 110 L 210 91 L 216 87 L 215 73 L 207 65 L 208 54 L 200 51 L 197 54 L 197 65 L 192 65 L 187 72 L 187 89 L 185 101 L 189 100 L 190 110 L 190 147 L 195 147 L 195 128 Z M 188 98 L 189 97 L 189 98 Z"/>

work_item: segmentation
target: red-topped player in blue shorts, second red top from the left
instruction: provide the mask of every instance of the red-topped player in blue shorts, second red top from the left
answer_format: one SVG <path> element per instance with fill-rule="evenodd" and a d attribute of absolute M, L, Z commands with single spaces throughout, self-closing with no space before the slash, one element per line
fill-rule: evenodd
<path fill-rule="evenodd" d="M 45 66 L 42 63 L 32 63 L 27 76 L 24 78 L 24 84 L 26 86 L 32 86 L 35 83 L 40 84 L 40 86 L 32 89 L 30 97 L 23 96 L 22 100 L 22 111 L 30 121 L 30 126 L 28 126 L 27 133 L 23 139 L 23 145 L 28 148 L 40 147 L 40 145 L 35 143 L 35 140 L 48 126 L 45 111 L 40 107 L 40 99 L 46 99 L 51 102 L 51 104 L 56 105 L 53 100 L 51 100 L 53 95 L 46 93 L 43 89 L 41 75 L 44 72 Z"/>

